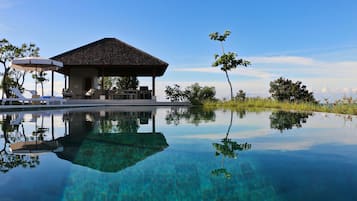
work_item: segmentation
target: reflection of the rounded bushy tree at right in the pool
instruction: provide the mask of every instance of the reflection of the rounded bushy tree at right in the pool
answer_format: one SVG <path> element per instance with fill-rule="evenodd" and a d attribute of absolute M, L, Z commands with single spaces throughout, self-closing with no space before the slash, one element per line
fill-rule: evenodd
<path fill-rule="evenodd" d="M 306 120 L 310 115 L 312 115 L 312 113 L 286 111 L 272 112 L 269 116 L 270 128 L 277 129 L 280 132 L 292 129 L 293 127 L 301 128 L 302 124 L 306 123 Z"/>

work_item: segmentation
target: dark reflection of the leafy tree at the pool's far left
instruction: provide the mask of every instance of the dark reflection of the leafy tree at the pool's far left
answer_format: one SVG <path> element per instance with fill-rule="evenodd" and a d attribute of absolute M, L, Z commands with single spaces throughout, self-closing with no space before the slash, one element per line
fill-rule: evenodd
<path fill-rule="evenodd" d="M 3 148 L 0 150 L 0 171 L 6 173 L 12 168 L 18 166 L 21 166 L 23 168 L 26 167 L 34 168 L 36 165 L 40 163 L 38 156 L 19 155 L 19 154 L 11 153 L 11 150 L 9 148 L 10 143 L 16 142 L 18 138 L 9 134 L 13 133 L 14 131 L 18 131 L 19 125 L 11 125 L 10 121 L 11 121 L 11 116 L 6 115 L 5 118 L 3 118 L 2 121 L 0 122 L 1 130 L 3 132 L 2 137 L 4 140 Z"/>

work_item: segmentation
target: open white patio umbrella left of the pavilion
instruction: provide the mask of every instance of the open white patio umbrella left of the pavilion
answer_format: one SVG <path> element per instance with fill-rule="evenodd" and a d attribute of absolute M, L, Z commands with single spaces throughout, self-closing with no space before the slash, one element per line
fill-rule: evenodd
<path fill-rule="evenodd" d="M 63 67 L 63 63 L 53 59 L 47 59 L 42 57 L 23 57 L 15 58 L 11 64 L 11 68 L 30 72 L 43 72 L 43 71 L 54 71 Z M 53 80 L 52 80 L 53 83 Z M 35 91 L 37 94 L 37 79 Z"/>

